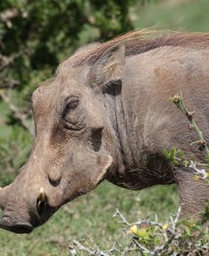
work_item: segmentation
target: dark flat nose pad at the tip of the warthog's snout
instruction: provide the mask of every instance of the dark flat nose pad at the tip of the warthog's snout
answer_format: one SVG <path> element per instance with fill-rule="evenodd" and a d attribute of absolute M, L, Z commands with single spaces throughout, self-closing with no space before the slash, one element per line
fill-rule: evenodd
<path fill-rule="evenodd" d="M 18 234 L 30 233 L 33 231 L 33 227 L 29 222 L 23 221 L 13 223 L 8 220 L 8 218 L 3 218 L 3 220 L 0 221 L 0 227 Z"/>

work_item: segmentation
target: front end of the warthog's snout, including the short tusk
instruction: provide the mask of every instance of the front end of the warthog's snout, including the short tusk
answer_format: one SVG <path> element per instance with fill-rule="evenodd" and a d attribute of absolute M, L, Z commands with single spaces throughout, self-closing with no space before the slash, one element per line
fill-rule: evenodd
<path fill-rule="evenodd" d="M 19 234 L 30 233 L 54 212 L 43 187 L 36 193 L 22 195 L 22 198 L 13 186 L 0 188 L 0 208 L 3 209 L 0 228 Z"/>

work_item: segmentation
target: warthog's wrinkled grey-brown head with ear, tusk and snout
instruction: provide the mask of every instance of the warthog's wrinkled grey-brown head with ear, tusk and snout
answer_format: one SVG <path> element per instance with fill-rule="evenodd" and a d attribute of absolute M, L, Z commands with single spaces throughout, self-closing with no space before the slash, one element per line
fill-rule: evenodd
<path fill-rule="evenodd" d="M 29 233 L 117 168 L 118 141 L 103 91 L 121 79 L 124 45 L 108 47 L 93 64 L 74 65 L 95 47 L 80 48 L 33 93 L 36 138 L 17 178 L 0 188 L 1 228 Z"/>

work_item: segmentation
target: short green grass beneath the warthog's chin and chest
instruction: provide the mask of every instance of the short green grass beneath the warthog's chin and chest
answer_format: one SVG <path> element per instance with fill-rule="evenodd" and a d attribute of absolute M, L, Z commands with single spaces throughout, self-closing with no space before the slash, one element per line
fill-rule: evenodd
<path fill-rule="evenodd" d="M 155 186 L 142 192 L 130 192 L 103 182 L 93 192 L 66 204 L 57 214 L 30 235 L 0 230 L 0 255 L 61 256 L 68 254 L 69 237 L 81 239 L 87 234 L 97 244 L 114 236 L 123 242 L 122 226 L 113 218 L 118 208 L 129 221 L 154 218 L 165 220 L 178 204 L 175 186 Z M 88 239 L 88 238 L 87 238 Z"/>

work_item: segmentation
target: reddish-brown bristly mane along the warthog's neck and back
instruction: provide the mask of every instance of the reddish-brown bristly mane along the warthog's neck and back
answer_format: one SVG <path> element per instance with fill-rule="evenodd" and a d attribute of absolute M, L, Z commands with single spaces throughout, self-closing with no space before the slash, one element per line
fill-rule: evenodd
<path fill-rule="evenodd" d="M 75 53 L 66 60 L 66 62 L 73 66 L 93 64 L 102 56 L 102 53 L 118 42 L 124 42 L 126 47 L 125 55 L 132 56 L 148 52 L 157 47 L 165 46 L 193 48 L 209 47 L 209 34 L 185 33 L 179 31 L 130 31 L 124 35 L 113 38 L 113 40 L 98 44 L 91 50 L 78 54 Z"/>

